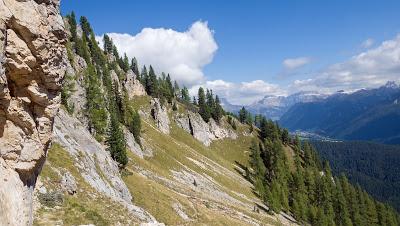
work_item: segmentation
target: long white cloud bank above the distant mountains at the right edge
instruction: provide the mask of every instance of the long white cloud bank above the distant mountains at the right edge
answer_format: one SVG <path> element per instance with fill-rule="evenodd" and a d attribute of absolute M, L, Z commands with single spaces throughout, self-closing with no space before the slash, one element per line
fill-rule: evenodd
<path fill-rule="evenodd" d="M 345 62 L 333 64 L 311 79 L 295 81 L 289 89 L 334 92 L 378 87 L 387 81 L 400 82 L 400 35 Z"/>

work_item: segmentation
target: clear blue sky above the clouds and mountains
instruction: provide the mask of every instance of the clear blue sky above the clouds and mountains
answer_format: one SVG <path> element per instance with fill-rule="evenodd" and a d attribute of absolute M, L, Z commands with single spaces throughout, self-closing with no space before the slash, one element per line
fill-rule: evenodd
<path fill-rule="evenodd" d="M 275 87 L 265 89 L 257 98 L 268 94 L 268 90 L 288 92 L 296 80 L 307 81 L 327 73 L 332 65 L 346 64 L 358 54 L 379 48 L 383 41 L 396 39 L 400 33 L 400 1 L 74 2 L 62 1 L 62 13 L 74 10 L 78 16 L 85 15 L 98 35 L 127 33 L 135 36 L 143 28 L 185 32 L 196 21 L 207 21 L 208 28 L 214 31 L 218 49 L 210 62 L 201 66 L 201 84 L 221 80 L 237 88 L 235 84 L 262 80 Z M 368 39 L 370 41 L 363 46 Z M 294 67 L 283 65 L 285 59 L 295 58 L 304 61 L 287 61 L 294 62 Z M 384 79 L 380 80 L 382 83 Z M 319 83 L 313 83 L 310 89 L 318 88 Z M 332 89 L 360 88 L 360 85 Z M 226 91 L 221 93 L 227 98 L 231 95 Z"/>

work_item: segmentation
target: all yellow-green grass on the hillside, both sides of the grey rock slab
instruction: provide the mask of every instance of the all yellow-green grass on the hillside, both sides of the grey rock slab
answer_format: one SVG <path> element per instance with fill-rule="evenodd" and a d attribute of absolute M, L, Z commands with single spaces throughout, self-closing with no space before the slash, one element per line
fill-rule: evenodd
<path fill-rule="evenodd" d="M 149 97 L 141 97 L 133 104 L 149 112 L 149 101 Z M 182 106 L 179 107 L 182 111 Z M 275 216 L 264 211 L 252 211 L 255 203 L 260 201 L 253 193 L 251 184 L 236 170 L 240 169 L 239 164 L 246 166 L 248 163 L 247 150 L 252 138 L 241 134 L 249 128 L 239 126 L 239 138 L 236 140 L 214 141 L 210 147 L 205 147 L 176 126 L 172 120 L 173 114 L 170 113 L 170 135 L 159 132 L 151 119 L 142 117 L 142 137 L 144 144 L 153 150 L 153 157 L 141 159 L 128 151 L 130 161 L 127 170 L 130 173 L 125 173 L 122 178 L 134 197 L 134 204 L 143 207 L 166 225 L 249 225 L 243 219 L 237 219 L 239 212 L 257 219 L 262 225 L 280 225 Z M 208 165 L 202 167 L 201 164 Z M 211 178 L 222 192 L 245 206 L 220 202 L 184 185 L 177 188 L 168 186 L 165 180 L 175 181 L 171 171 L 179 172 L 183 169 Z M 124 214 L 124 207 L 90 187 L 77 171 L 71 156 L 54 144 L 49 150 L 40 181 L 49 192 L 60 190 L 60 173 L 65 171 L 75 177 L 77 194 L 70 196 L 64 193 L 59 207 L 42 203 L 34 225 L 56 225 L 57 222 L 63 222 L 64 225 L 113 225 L 115 222 L 122 225 L 137 224 L 135 219 Z M 144 172 L 152 176 L 145 176 Z M 190 220 L 185 221 L 178 215 L 173 208 L 176 203 L 182 206 Z"/>

